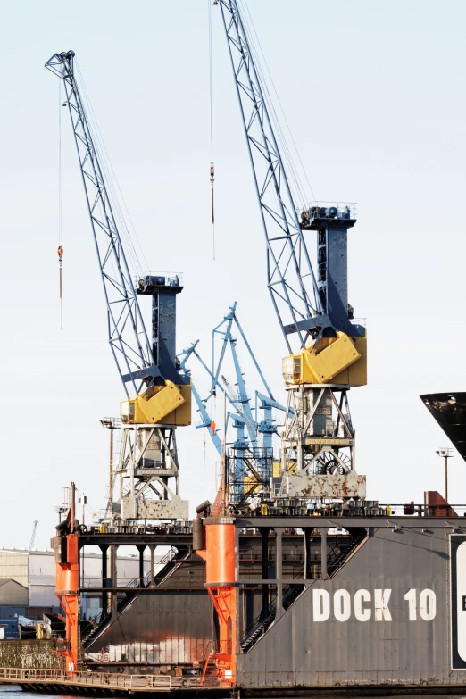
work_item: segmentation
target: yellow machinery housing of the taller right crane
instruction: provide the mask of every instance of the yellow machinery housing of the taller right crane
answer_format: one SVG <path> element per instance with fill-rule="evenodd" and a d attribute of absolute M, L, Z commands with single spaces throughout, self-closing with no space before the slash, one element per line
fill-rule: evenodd
<path fill-rule="evenodd" d="M 366 337 L 320 337 L 298 354 L 283 360 L 287 385 L 334 384 L 364 386 L 367 383 Z"/>

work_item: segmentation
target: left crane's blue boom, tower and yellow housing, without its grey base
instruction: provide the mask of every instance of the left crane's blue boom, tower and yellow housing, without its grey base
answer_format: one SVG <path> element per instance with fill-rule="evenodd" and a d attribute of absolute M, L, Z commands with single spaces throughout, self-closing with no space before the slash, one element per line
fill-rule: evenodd
<path fill-rule="evenodd" d="M 54 54 L 46 68 L 62 79 L 66 93 L 63 106 L 70 113 L 79 156 L 107 306 L 108 340 L 128 399 L 121 403 L 121 420 L 190 424 L 190 381 L 179 374 L 175 347 L 176 297 L 183 287 L 177 274 L 146 274 L 137 279 L 135 288 L 105 181 L 108 171 L 101 163 L 104 146 L 98 143 L 98 129 L 93 134 L 87 119 L 80 93 L 80 87 L 83 94 L 86 88 L 80 76 L 76 79 L 74 57 L 73 51 Z M 152 298 L 151 340 L 138 295 Z"/>

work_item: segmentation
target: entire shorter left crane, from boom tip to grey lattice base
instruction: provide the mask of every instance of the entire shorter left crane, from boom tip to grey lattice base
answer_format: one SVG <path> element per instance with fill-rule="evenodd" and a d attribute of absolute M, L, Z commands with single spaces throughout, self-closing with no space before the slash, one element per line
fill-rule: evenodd
<path fill-rule="evenodd" d="M 175 429 L 191 420 L 191 387 L 176 360 L 179 276 L 147 274 L 133 284 L 79 83 L 73 51 L 54 54 L 46 68 L 60 79 L 79 157 L 87 210 L 104 286 L 108 340 L 126 397 L 121 401 L 121 456 L 112 482 L 119 495 L 111 520 L 176 520 L 188 517 L 179 497 Z M 138 295 L 152 297 L 149 340 Z M 110 494 L 112 500 L 112 493 Z"/>

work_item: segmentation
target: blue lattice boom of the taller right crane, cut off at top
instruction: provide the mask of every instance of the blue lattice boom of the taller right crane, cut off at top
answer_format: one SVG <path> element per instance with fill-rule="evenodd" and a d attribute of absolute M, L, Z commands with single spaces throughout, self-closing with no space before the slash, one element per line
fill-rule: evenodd
<path fill-rule="evenodd" d="M 304 346 L 307 329 L 331 323 L 322 309 L 312 262 L 237 2 L 220 0 L 220 5 L 266 238 L 267 283 L 291 352 L 288 335 L 297 331 L 300 345 Z M 304 323 L 308 327 L 303 327 L 303 321 L 309 321 Z"/>

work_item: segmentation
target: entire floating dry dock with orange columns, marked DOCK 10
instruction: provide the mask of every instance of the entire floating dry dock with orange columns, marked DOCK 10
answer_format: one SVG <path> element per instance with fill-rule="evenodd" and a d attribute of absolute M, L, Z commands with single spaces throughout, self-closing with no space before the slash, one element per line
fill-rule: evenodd
<path fill-rule="evenodd" d="M 76 678 L 83 678 L 104 691 L 101 678 L 112 677 L 112 691 L 138 685 L 171 694 L 466 691 L 466 506 L 438 504 L 435 495 L 427 494 L 426 504 L 390 508 L 351 501 L 338 511 L 334 504 L 319 516 L 200 518 L 205 564 L 192 535 L 171 535 L 179 537 L 181 558 L 167 563 L 171 575 L 160 586 L 142 580 L 127 589 L 131 599 L 120 611 L 121 589 L 105 580 L 96 592 L 106 595 L 109 615 L 84 644 L 86 630 L 74 623 L 73 610 L 88 591 L 79 589 L 76 574 L 77 588 L 74 578 L 60 588 L 68 611 L 62 655 L 76 665 L 65 666 L 56 682 L 64 677 L 67 687 L 81 687 Z M 212 568 L 212 537 L 222 532 L 228 544 L 227 530 L 232 545 L 216 550 Z M 84 544 L 106 551 L 139 541 L 143 551 L 143 543 L 161 536 L 65 535 L 55 541 L 57 565 L 71 570 L 70 558 L 79 562 Z M 98 648 L 105 658 L 96 657 Z M 89 662 L 92 673 L 75 671 Z M 167 670 L 180 676 L 164 676 Z M 45 691 L 50 681 L 29 675 L 21 685 Z"/>

